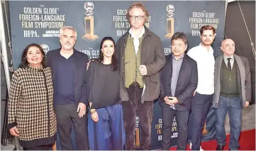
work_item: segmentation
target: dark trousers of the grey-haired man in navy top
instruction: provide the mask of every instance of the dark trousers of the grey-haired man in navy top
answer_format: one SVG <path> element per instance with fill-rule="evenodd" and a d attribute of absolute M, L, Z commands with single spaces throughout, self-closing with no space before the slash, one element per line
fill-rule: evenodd
<path fill-rule="evenodd" d="M 55 106 L 55 115 L 62 150 L 73 150 L 70 137 L 72 123 L 74 125 L 78 150 L 89 150 L 87 114 L 79 118 L 77 105 L 64 104 Z"/>

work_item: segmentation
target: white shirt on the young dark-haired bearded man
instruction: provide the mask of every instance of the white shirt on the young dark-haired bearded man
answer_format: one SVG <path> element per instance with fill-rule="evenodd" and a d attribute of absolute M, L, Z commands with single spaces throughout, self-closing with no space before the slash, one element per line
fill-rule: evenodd
<path fill-rule="evenodd" d="M 214 93 L 214 56 L 213 48 L 207 50 L 203 45 L 192 47 L 187 55 L 197 63 L 198 84 L 196 91 L 199 94 L 211 95 Z"/>

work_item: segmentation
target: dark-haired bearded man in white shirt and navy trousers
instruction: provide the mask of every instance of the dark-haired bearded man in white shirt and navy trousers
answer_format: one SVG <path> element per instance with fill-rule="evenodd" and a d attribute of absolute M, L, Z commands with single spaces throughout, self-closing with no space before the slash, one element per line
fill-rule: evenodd
<path fill-rule="evenodd" d="M 198 69 L 198 85 L 191 100 L 191 150 L 202 150 L 202 125 L 206 120 L 214 93 L 214 64 L 213 48 L 211 44 L 216 36 L 212 26 L 203 26 L 200 29 L 200 45 L 191 48 L 187 55 L 194 59 Z"/>

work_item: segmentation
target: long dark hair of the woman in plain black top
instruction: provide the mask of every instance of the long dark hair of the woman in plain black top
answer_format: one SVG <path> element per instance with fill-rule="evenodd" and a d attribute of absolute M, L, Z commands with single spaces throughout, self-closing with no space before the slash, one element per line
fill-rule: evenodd
<path fill-rule="evenodd" d="M 100 49 L 99 49 L 99 62 L 103 62 L 104 60 L 104 55 L 101 51 L 101 48 L 102 48 L 102 45 L 103 43 L 106 41 L 106 40 L 111 40 L 113 42 L 113 48 L 115 49 L 116 51 L 116 43 L 115 43 L 115 40 L 113 40 L 113 38 L 111 37 L 104 37 L 102 40 L 101 40 L 101 46 L 100 46 Z M 115 55 L 115 51 L 113 52 L 113 55 L 112 55 L 112 58 L 111 58 L 111 63 L 112 63 L 112 71 L 116 71 L 116 69 L 118 69 L 118 61 L 116 59 L 116 55 Z"/>

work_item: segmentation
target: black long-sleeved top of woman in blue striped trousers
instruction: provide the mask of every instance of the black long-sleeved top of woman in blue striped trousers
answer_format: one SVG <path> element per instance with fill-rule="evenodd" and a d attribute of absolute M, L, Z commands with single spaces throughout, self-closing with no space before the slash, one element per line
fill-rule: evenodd
<path fill-rule="evenodd" d="M 88 69 L 88 94 L 91 108 L 104 108 L 119 104 L 119 70 L 112 71 L 112 65 L 91 62 Z"/>

